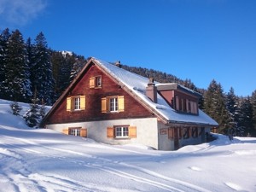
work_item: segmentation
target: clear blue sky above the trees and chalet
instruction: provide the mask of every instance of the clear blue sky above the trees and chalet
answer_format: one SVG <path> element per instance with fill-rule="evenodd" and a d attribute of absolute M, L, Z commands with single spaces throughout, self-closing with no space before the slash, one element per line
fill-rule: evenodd
<path fill-rule="evenodd" d="M 0 29 L 85 57 L 256 90 L 254 0 L 0 0 Z"/>

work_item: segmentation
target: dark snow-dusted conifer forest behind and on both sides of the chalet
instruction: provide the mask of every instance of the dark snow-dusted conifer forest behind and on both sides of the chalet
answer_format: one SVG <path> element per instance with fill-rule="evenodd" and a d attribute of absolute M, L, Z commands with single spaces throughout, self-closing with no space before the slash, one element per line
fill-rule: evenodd
<path fill-rule="evenodd" d="M 0 98 L 53 105 L 89 58 L 50 49 L 43 32 L 34 40 L 25 40 L 18 29 L 10 32 L 6 28 L 0 31 Z M 190 79 L 179 79 L 154 69 L 124 64 L 122 67 L 160 83 L 178 83 L 201 93 L 199 106 L 218 122 L 219 133 L 256 137 L 256 90 L 251 96 L 236 96 L 233 87 L 224 93 L 215 79 L 206 90 L 196 87 Z"/>

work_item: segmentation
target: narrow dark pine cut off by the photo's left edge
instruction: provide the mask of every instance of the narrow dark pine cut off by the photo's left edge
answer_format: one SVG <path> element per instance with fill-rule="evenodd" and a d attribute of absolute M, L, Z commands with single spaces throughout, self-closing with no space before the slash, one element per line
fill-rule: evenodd
<path fill-rule="evenodd" d="M 7 42 L 10 37 L 9 28 L 6 28 L 0 34 L 0 98 L 9 99 L 9 96 L 5 93 L 5 74 L 6 72 L 6 52 Z"/>

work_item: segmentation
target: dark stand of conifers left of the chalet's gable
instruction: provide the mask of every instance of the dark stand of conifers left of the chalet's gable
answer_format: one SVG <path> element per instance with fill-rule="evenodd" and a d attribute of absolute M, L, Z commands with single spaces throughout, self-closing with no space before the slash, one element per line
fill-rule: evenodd
<path fill-rule="evenodd" d="M 49 49 L 43 32 L 32 42 L 19 30 L 0 34 L 0 98 L 52 105 L 83 67 L 84 56 Z"/>

